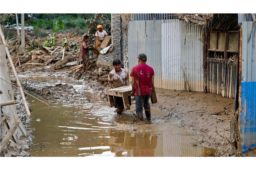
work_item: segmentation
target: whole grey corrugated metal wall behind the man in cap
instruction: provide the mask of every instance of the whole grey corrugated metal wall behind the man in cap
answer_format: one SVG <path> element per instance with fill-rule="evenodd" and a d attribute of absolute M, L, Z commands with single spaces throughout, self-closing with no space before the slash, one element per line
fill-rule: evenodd
<path fill-rule="evenodd" d="M 128 25 L 128 69 L 140 53 L 155 71 L 155 87 L 183 90 L 183 69 L 193 91 L 203 91 L 203 30 L 180 20 L 132 21 Z"/>

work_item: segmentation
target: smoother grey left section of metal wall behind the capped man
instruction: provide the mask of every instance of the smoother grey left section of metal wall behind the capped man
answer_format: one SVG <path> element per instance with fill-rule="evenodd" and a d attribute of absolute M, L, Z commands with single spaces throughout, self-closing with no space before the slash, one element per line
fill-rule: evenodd
<path fill-rule="evenodd" d="M 154 69 L 155 87 L 162 88 L 161 21 L 132 21 L 128 25 L 128 70 L 138 64 L 138 55 L 147 55 Z"/>

